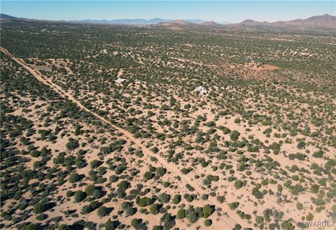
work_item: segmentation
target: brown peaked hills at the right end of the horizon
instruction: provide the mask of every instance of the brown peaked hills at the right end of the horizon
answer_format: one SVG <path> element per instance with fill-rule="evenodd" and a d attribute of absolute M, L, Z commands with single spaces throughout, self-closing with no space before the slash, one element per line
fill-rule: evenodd
<path fill-rule="evenodd" d="M 297 19 L 279 22 L 258 22 L 255 20 L 244 20 L 243 22 L 229 25 L 229 27 L 252 27 L 256 29 L 336 29 L 336 16 L 319 15 L 307 19 Z"/>

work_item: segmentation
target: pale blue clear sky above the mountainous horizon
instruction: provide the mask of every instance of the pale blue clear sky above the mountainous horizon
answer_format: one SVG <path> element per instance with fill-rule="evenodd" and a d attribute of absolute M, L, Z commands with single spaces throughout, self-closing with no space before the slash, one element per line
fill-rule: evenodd
<path fill-rule="evenodd" d="M 46 20 L 165 18 L 274 22 L 335 15 L 333 1 L 2 1 L 1 13 Z"/>

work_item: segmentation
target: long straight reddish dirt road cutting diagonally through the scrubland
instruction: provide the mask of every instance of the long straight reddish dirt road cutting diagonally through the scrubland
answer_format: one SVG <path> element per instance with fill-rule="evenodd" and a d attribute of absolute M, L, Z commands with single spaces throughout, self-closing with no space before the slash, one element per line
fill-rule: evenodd
<path fill-rule="evenodd" d="M 171 164 L 167 163 L 165 158 L 160 156 L 160 154 L 154 154 L 151 150 L 147 149 L 143 144 L 141 144 L 141 142 L 139 140 L 137 140 L 135 137 L 133 137 L 133 135 L 131 133 L 129 133 L 127 130 L 124 130 L 123 128 L 119 128 L 118 126 L 113 125 L 113 123 L 111 123 L 111 121 L 105 119 L 102 116 L 99 116 L 98 114 L 94 113 L 93 111 L 90 111 L 90 109 L 87 109 L 86 107 L 84 107 L 83 104 L 81 104 L 78 100 L 76 100 L 75 97 L 73 97 L 73 95 L 64 91 L 60 86 L 53 83 L 49 79 L 45 79 L 45 77 L 42 76 L 39 72 L 37 72 L 36 70 L 29 67 L 22 59 L 20 59 L 18 57 L 14 57 L 5 48 L 0 47 L 0 50 L 3 53 L 5 53 L 6 55 L 10 56 L 15 62 L 20 64 L 22 67 L 27 69 L 38 81 L 41 81 L 41 83 L 44 83 L 45 85 L 49 86 L 50 88 L 55 90 L 60 95 L 62 95 L 64 97 L 68 97 L 68 99 L 71 100 L 73 103 L 77 104 L 78 107 L 80 107 L 80 109 L 83 109 L 83 110 L 87 111 L 88 113 L 97 117 L 97 119 L 99 119 L 101 121 L 104 121 L 104 123 L 109 124 L 116 131 L 118 131 L 120 133 L 123 133 L 123 136 L 126 139 L 134 142 L 135 145 L 137 147 L 139 147 L 144 152 L 144 155 L 147 156 L 147 158 L 149 158 L 151 156 L 157 158 L 158 162 L 161 163 L 163 167 L 167 168 L 167 170 L 171 171 L 175 175 L 179 175 L 179 177 L 181 177 L 181 180 L 183 182 L 185 182 L 186 184 L 190 184 L 192 187 L 194 187 L 194 189 L 199 194 L 207 193 L 207 191 L 204 191 L 204 189 L 202 189 L 199 184 L 197 184 L 195 181 L 191 180 L 190 177 L 188 177 L 186 175 L 183 175 L 177 168 L 174 167 L 174 165 L 171 165 Z M 123 69 L 120 69 L 120 71 L 118 72 L 118 75 L 119 75 L 120 72 L 122 74 Z M 239 215 L 237 215 L 237 213 L 234 210 L 230 210 L 230 208 L 228 207 L 227 204 L 219 203 L 217 201 L 216 197 L 209 196 L 208 200 L 204 201 L 204 205 L 207 204 L 207 203 L 211 203 L 213 205 L 216 205 L 216 208 L 222 208 L 222 210 L 224 212 L 228 213 L 228 217 L 227 216 L 221 216 L 220 217 L 221 221 L 223 221 L 223 229 L 232 229 L 235 226 L 235 224 L 241 224 L 241 226 L 243 226 L 243 227 L 250 227 L 250 228 L 252 227 L 251 224 L 248 224 L 248 222 L 246 222 L 246 220 L 241 219 L 241 217 L 239 217 Z M 214 214 L 214 215 L 216 215 L 216 214 Z"/>

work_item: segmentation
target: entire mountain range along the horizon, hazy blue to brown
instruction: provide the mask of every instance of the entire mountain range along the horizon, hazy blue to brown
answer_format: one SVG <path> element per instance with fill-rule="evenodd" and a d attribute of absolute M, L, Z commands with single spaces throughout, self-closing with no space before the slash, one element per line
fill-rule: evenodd
<path fill-rule="evenodd" d="M 16 18 L 10 15 L 0 14 L 1 20 L 30 20 L 27 18 Z M 244 20 L 240 23 L 230 24 L 217 23 L 214 21 L 195 20 L 167 20 L 161 18 L 145 19 L 118 19 L 118 20 L 71 20 L 62 22 L 77 22 L 77 23 L 99 23 L 112 25 L 149 25 L 167 27 L 170 29 L 188 29 L 193 27 L 223 27 L 227 29 L 279 29 L 279 30 L 335 30 L 336 16 L 333 15 L 318 15 L 307 19 L 297 19 L 290 21 L 279 22 L 258 22 L 255 20 Z"/>

